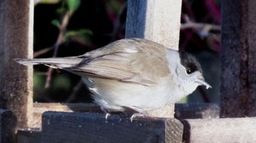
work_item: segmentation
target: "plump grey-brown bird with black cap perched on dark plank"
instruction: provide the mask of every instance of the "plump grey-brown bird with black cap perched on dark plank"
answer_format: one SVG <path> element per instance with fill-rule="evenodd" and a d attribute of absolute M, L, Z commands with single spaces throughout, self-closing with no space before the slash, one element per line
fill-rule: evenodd
<path fill-rule="evenodd" d="M 179 102 L 198 86 L 212 88 L 196 57 L 147 39 L 121 39 L 73 57 L 15 60 L 81 76 L 106 118 L 131 109 L 131 120 L 147 116 L 148 111 Z"/>

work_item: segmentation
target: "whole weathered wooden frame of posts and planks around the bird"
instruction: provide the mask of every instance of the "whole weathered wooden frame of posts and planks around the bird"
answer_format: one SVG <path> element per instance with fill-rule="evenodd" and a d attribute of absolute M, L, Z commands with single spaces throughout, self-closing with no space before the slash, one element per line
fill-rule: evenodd
<path fill-rule="evenodd" d="M 178 50 L 181 0 L 128 1 L 126 37 Z M 34 0 L 0 0 L 0 142 L 256 142 L 256 1 L 222 1 L 221 104 L 175 104 L 136 118 L 96 104 L 34 103 Z M 179 118 L 173 118 L 175 116 Z"/>

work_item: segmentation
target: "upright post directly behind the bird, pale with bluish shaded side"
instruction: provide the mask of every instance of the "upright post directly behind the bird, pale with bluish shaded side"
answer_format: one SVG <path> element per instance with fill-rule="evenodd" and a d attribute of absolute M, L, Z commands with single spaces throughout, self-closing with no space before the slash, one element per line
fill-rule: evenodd
<path fill-rule="evenodd" d="M 179 50 L 181 0 L 128 1 L 126 38 L 143 38 Z M 174 117 L 174 104 L 148 113 Z"/>

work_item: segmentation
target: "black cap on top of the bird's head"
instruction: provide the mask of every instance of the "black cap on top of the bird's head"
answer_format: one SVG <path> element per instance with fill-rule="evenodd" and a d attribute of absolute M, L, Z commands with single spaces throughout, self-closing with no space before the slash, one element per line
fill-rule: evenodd
<path fill-rule="evenodd" d="M 200 71 L 203 74 L 202 67 L 195 56 L 179 51 L 179 57 L 181 58 L 181 64 L 186 68 L 187 74 L 192 74 L 195 71 Z"/>

